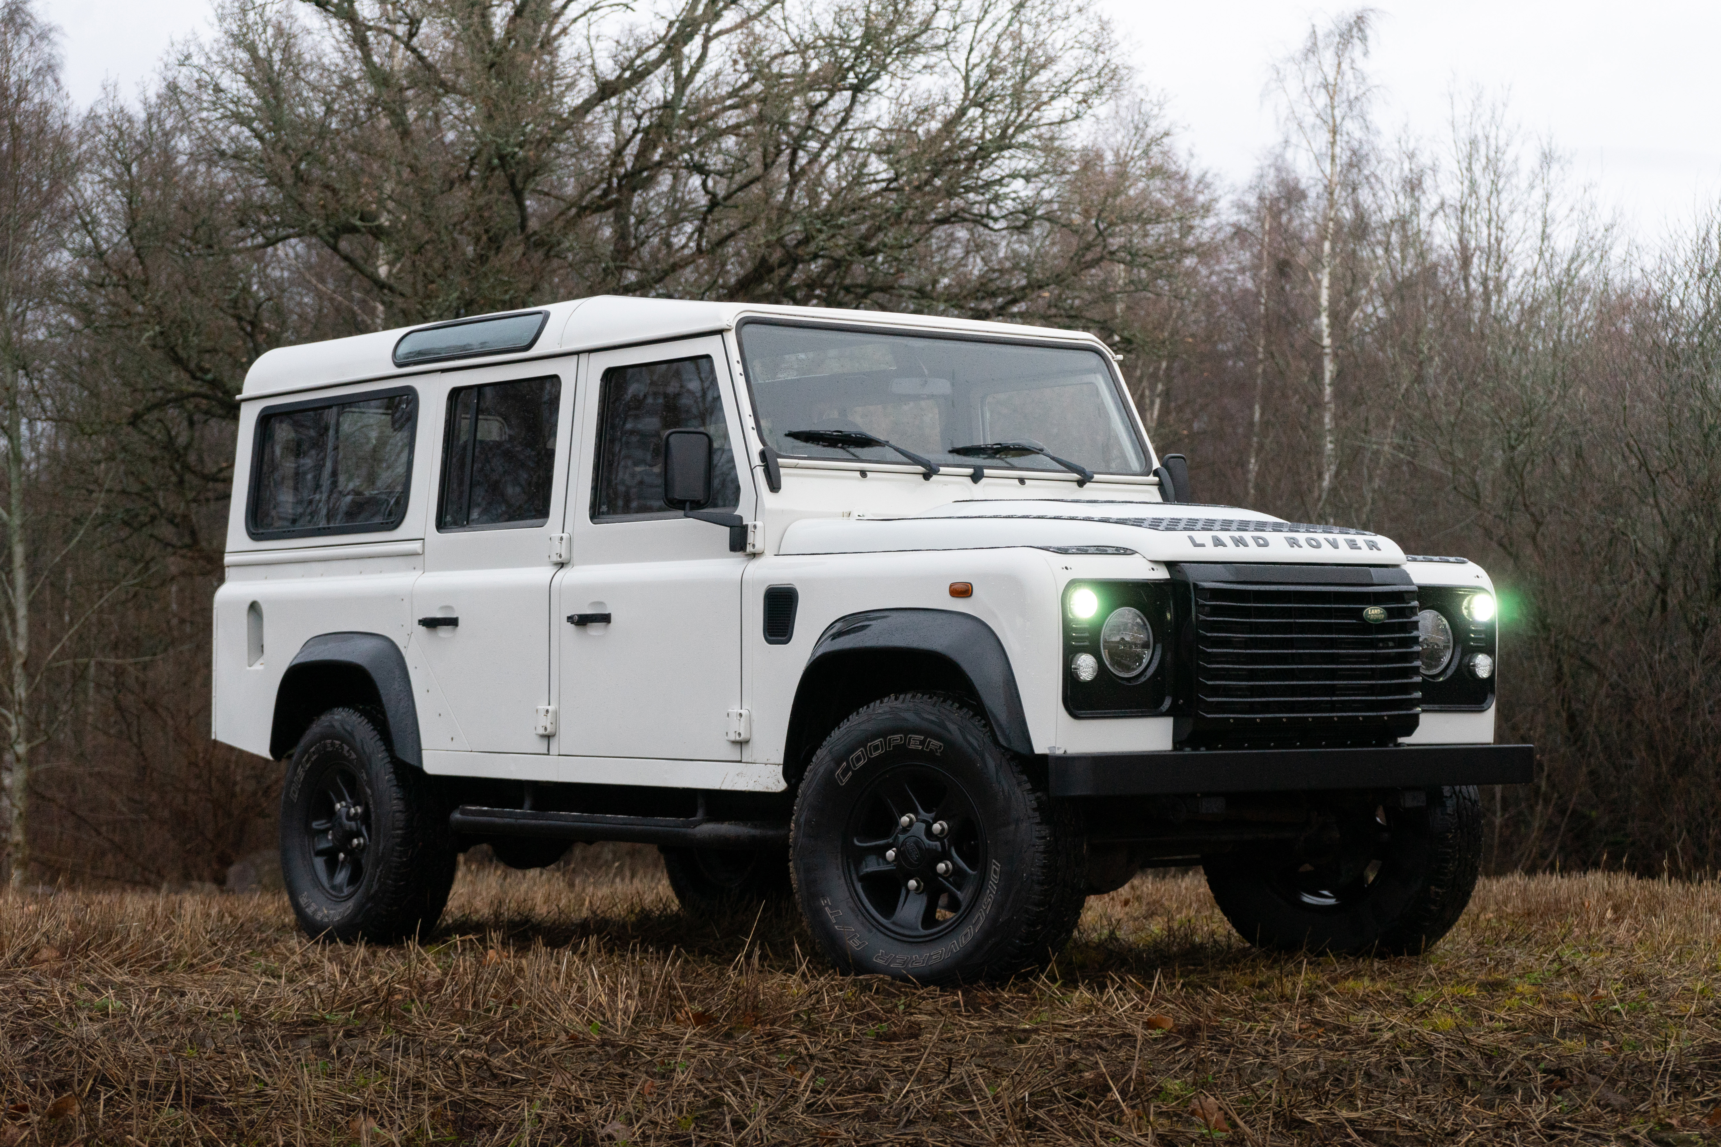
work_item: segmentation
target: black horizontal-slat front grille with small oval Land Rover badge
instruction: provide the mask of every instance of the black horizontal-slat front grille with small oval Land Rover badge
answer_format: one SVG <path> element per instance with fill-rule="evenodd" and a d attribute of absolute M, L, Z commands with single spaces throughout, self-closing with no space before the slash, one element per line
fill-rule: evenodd
<path fill-rule="evenodd" d="M 1200 741 L 1382 745 L 1415 733 L 1415 586 L 1194 581 L 1191 592 Z M 1366 621 L 1375 605 L 1384 621 Z"/>

